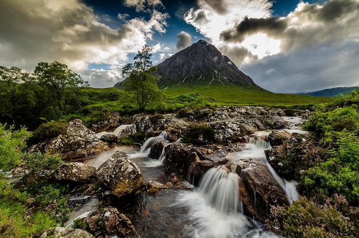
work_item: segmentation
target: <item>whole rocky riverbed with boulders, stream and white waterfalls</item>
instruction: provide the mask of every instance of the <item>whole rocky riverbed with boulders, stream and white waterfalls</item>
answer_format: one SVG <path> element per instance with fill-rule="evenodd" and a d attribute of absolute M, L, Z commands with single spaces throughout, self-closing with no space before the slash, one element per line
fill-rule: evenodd
<path fill-rule="evenodd" d="M 46 176 L 71 187 L 61 237 L 276 237 L 264 225 L 271 206 L 297 199 L 295 179 L 319 150 L 298 127 L 307 116 L 223 106 L 139 114 L 123 126 L 114 113 L 92 126 L 114 133 L 74 120 L 30 151 L 66 161 Z M 118 144 L 138 133 L 142 148 Z M 76 220 L 86 231 L 71 228 Z"/>

